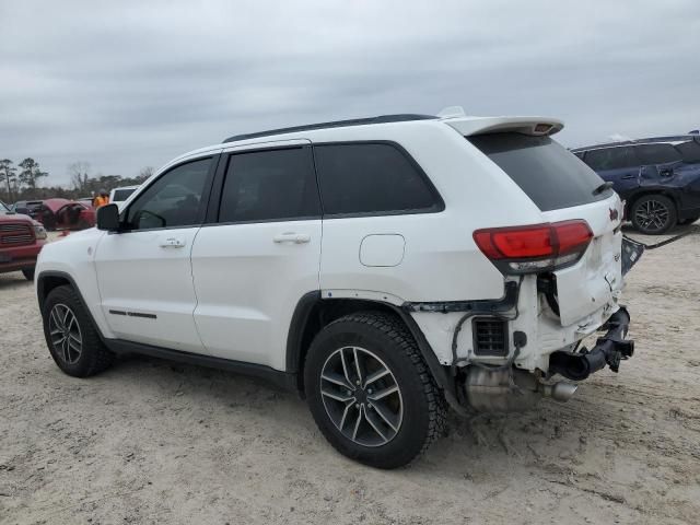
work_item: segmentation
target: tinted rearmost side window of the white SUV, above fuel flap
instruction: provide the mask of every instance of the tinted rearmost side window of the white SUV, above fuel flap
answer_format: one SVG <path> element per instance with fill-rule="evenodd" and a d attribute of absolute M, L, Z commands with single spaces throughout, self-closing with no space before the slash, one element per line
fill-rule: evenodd
<path fill-rule="evenodd" d="M 442 200 L 400 149 L 390 143 L 314 147 L 325 214 L 392 214 L 442 209 Z"/>

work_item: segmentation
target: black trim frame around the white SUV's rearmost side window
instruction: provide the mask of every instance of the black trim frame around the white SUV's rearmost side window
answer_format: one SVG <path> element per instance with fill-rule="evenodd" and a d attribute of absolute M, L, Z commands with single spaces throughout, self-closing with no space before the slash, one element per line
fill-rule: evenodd
<path fill-rule="evenodd" d="M 324 207 L 324 195 L 320 189 L 320 179 L 318 175 L 318 167 L 316 165 L 316 147 L 324 145 L 357 145 L 357 144 L 385 144 L 390 145 L 395 150 L 397 150 L 404 158 L 408 161 L 408 163 L 416 170 L 419 177 L 422 179 L 423 184 L 430 191 L 433 198 L 433 205 L 428 208 L 415 208 L 408 210 L 386 210 L 386 211 L 361 211 L 361 212 L 352 212 L 352 213 L 326 213 Z M 323 210 L 323 219 L 353 219 L 358 217 L 392 217 L 392 215 L 416 215 L 420 213 L 440 213 L 445 210 L 445 201 L 442 199 L 442 196 L 438 191 L 438 188 L 433 185 L 432 180 L 428 176 L 428 174 L 423 171 L 421 165 L 412 158 L 412 155 L 406 151 L 401 144 L 393 140 L 339 140 L 339 141 L 325 141 L 325 142 L 314 142 L 314 166 L 316 168 L 316 185 L 318 186 L 318 192 L 320 195 L 320 207 Z"/>

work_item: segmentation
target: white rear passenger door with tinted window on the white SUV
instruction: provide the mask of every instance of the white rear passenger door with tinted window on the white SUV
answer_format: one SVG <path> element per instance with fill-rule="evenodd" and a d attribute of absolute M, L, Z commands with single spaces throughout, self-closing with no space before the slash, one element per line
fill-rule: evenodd
<path fill-rule="evenodd" d="M 195 322 L 215 357 L 285 368 L 299 300 L 318 290 L 322 221 L 308 141 L 222 158 L 192 249 Z"/>

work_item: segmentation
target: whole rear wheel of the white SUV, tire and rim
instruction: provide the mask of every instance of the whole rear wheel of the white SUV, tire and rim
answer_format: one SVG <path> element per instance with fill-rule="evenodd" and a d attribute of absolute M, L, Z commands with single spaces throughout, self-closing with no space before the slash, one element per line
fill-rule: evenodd
<path fill-rule="evenodd" d="M 444 427 L 442 393 L 392 315 L 358 313 L 326 326 L 308 350 L 304 385 L 326 439 L 365 465 L 404 466 Z"/>

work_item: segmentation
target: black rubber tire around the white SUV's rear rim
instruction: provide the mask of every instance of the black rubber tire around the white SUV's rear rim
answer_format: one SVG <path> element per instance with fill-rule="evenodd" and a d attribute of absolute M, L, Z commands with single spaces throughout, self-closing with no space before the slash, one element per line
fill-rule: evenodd
<path fill-rule="evenodd" d="M 325 402 L 340 402 L 340 400 L 329 399 L 320 393 L 324 366 L 328 366 L 332 359 L 342 360 L 342 352 L 352 350 L 352 348 L 358 348 L 363 355 L 359 361 L 363 361 L 366 366 L 365 380 L 372 375 L 368 368 L 373 362 L 381 362 L 390 372 L 389 375 L 373 383 L 377 385 L 376 388 L 383 388 L 381 392 L 375 392 L 375 396 L 389 389 L 386 388 L 386 384 L 381 383 L 383 381 L 390 382 L 390 388 L 398 386 L 400 418 L 396 429 L 393 427 L 389 429 L 388 424 L 384 427 L 388 434 L 393 434 L 388 442 L 383 441 L 386 439 L 383 433 L 374 432 L 376 425 L 370 427 L 371 419 L 374 419 L 375 422 L 382 422 L 377 416 L 381 416 L 380 412 L 384 409 L 381 410 L 373 404 L 373 401 L 376 402 L 376 399 L 370 400 L 371 396 L 368 393 L 372 394 L 372 389 L 369 388 L 371 386 L 369 383 L 352 392 L 352 396 L 355 396 L 352 399 L 362 396 L 362 402 L 355 404 L 354 400 L 350 400 L 349 406 L 345 405 L 340 427 L 331 419 L 330 412 L 332 410 L 326 408 Z M 336 358 L 339 355 L 338 352 L 340 352 L 340 358 Z M 373 361 L 372 355 L 378 360 Z M 345 362 L 342 365 L 345 368 Z M 357 377 L 357 374 L 354 376 Z M 348 374 L 345 377 L 348 377 Z M 340 378 L 343 383 L 346 382 L 343 377 Z M 328 390 L 328 386 L 335 387 L 335 383 L 323 381 L 326 382 L 324 384 L 325 392 Z M 350 383 L 352 382 L 350 378 Z M 407 465 L 428 450 L 430 444 L 444 431 L 445 402 L 443 395 L 435 385 L 412 336 L 404 323 L 393 315 L 361 312 L 346 315 L 322 329 L 308 350 L 304 365 L 304 387 L 316 424 L 330 444 L 341 454 L 372 467 L 397 468 Z M 345 386 L 337 388 L 345 390 L 346 394 L 351 392 Z M 365 395 L 368 395 L 366 398 Z M 390 400 L 388 397 L 385 399 Z M 360 405 L 362 411 L 357 409 Z M 361 421 L 359 425 L 354 423 L 350 428 L 343 425 L 346 413 L 350 413 L 349 410 L 352 415 L 348 416 L 348 420 Z M 384 419 L 384 421 L 387 420 Z M 394 419 L 394 421 L 396 423 L 397 420 Z M 348 433 L 355 429 L 357 441 L 353 441 L 353 436 L 343 434 L 339 429 L 346 429 Z M 362 432 L 366 435 L 374 435 L 378 440 L 378 444 L 358 443 L 358 441 L 362 441 L 358 429 L 364 429 Z"/>

